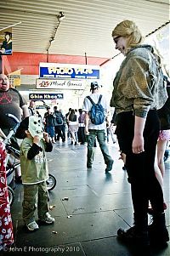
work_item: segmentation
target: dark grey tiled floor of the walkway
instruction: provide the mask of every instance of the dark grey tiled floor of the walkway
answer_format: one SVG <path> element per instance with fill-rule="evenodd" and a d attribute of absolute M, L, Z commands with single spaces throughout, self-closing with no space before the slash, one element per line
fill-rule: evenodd
<path fill-rule="evenodd" d="M 118 160 L 118 146 L 109 144 L 115 162 L 111 173 L 105 174 L 105 163 L 99 146 L 94 166 L 86 168 L 86 145 L 58 142 L 48 153 L 49 172 L 57 185 L 49 193 L 54 225 L 42 225 L 37 232 L 28 233 L 22 221 L 22 185 L 14 191 L 11 209 L 14 222 L 14 247 L 3 255 L 63 255 L 63 256 L 139 256 L 141 248 L 125 246 L 116 239 L 119 227 L 133 225 L 130 185 L 122 161 Z M 165 199 L 166 219 L 170 231 L 170 161 L 166 162 Z M 63 200 L 68 197 L 68 200 Z M 53 232 L 54 231 L 54 232 Z M 169 256 L 170 245 L 151 248 L 150 255 Z M 145 256 L 145 255 L 144 255 Z"/>

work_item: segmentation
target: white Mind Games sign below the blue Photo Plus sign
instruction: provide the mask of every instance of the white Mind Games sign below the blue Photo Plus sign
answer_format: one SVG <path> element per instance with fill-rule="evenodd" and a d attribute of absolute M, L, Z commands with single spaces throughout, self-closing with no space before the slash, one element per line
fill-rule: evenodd
<path fill-rule="evenodd" d="M 36 87 L 47 89 L 76 89 L 83 90 L 86 88 L 87 82 L 84 80 L 67 80 L 67 79 L 37 79 Z"/>

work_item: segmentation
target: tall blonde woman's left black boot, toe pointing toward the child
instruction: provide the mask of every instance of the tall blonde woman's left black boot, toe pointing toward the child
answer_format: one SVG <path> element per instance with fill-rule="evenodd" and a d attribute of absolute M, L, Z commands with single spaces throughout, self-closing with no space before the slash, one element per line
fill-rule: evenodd
<path fill-rule="evenodd" d="M 117 230 L 117 236 L 123 242 L 132 242 L 143 247 L 150 245 L 148 237 L 148 219 L 147 217 L 139 222 L 139 219 L 134 219 L 134 226 L 128 230 Z"/>

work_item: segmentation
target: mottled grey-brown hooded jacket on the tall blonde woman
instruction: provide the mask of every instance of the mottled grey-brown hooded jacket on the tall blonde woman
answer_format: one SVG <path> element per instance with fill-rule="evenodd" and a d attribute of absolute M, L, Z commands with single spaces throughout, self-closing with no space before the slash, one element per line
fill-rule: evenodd
<path fill-rule="evenodd" d="M 113 82 L 111 106 L 116 113 L 134 111 L 137 117 L 160 109 L 167 100 L 161 67 L 150 45 L 131 48 Z"/>

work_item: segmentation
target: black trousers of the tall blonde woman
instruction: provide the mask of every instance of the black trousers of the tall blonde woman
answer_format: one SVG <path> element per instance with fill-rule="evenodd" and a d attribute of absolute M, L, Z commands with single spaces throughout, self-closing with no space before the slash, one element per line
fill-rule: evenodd
<path fill-rule="evenodd" d="M 149 200 L 156 213 L 163 212 L 163 194 L 154 169 L 159 130 L 160 123 L 156 111 L 149 111 L 144 126 L 144 152 L 133 154 L 133 111 L 117 115 L 116 134 L 120 148 L 126 154 L 134 216 L 141 220 L 147 216 Z"/>

